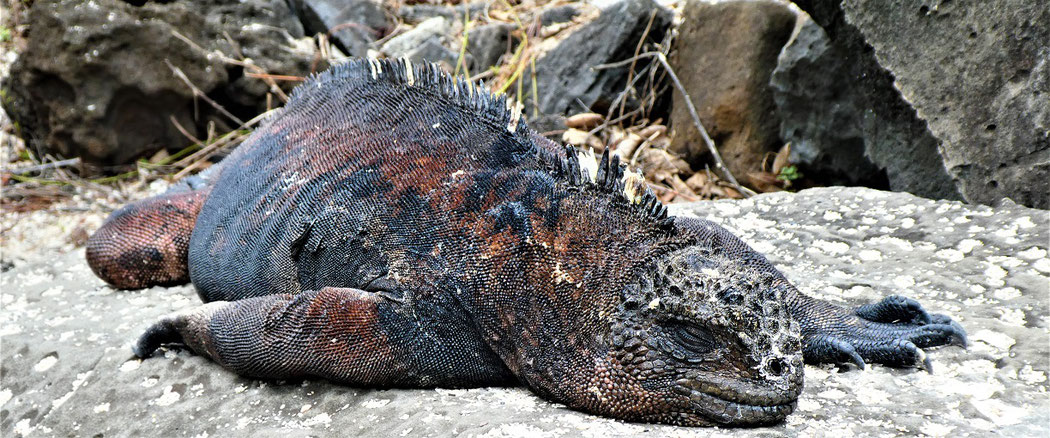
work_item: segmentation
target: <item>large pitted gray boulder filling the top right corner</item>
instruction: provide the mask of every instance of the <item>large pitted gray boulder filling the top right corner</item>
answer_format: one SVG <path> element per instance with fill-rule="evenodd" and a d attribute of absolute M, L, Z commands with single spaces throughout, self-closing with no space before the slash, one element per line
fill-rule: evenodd
<path fill-rule="evenodd" d="M 867 109 L 858 112 L 867 154 L 891 187 L 1050 208 L 1046 2 L 796 3 L 842 55 Z"/>

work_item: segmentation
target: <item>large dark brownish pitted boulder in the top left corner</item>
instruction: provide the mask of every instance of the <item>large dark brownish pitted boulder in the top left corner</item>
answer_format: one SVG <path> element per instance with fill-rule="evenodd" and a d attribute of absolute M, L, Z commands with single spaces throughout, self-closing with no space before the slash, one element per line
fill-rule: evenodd
<path fill-rule="evenodd" d="M 306 75 L 313 61 L 312 47 L 295 40 L 302 27 L 284 0 L 142 6 L 40 0 L 32 6 L 29 24 L 28 45 L 3 85 L 4 109 L 41 157 L 81 157 L 93 165 L 185 147 L 189 141 L 171 119 L 198 138 L 209 122 L 236 125 L 195 100 L 166 61 L 243 120 L 266 109 L 269 87 L 212 50 L 251 58 L 271 74 Z M 293 83 L 286 85 L 290 89 Z"/>

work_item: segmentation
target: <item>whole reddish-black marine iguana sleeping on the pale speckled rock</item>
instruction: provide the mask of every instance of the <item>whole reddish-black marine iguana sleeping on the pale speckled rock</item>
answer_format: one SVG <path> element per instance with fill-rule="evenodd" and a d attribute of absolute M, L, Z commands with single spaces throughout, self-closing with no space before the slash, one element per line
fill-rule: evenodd
<path fill-rule="evenodd" d="M 227 159 L 126 206 L 87 245 L 117 288 L 192 281 L 180 343 L 246 376 L 521 383 L 632 421 L 780 421 L 808 362 L 930 368 L 965 332 L 915 300 L 800 293 L 616 157 L 537 134 L 433 65 L 354 61 L 298 87 Z"/>

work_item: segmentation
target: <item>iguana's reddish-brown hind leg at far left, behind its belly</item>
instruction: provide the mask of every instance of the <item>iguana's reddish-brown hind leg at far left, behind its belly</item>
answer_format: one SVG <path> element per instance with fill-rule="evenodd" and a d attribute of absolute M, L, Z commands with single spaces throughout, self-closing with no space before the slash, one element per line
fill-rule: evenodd
<path fill-rule="evenodd" d="M 190 235 L 210 191 L 164 193 L 114 211 L 87 241 L 87 264 L 119 289 L 188 283 Z"/>

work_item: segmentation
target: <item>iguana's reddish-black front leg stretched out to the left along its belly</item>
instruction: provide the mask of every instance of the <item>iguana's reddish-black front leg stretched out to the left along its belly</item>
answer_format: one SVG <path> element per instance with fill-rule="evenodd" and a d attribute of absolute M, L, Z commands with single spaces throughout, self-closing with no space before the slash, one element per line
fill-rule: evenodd
<path fill-rule="evenodd" d="M 471 328 L 430 312 L 349 288 L 213 301 L 154 324 L 134 353 L 145 358 L 161 345 L 181 343 L 237 374 L 272 379 L 383 387 L 513 381 Z"/>

